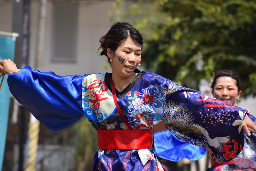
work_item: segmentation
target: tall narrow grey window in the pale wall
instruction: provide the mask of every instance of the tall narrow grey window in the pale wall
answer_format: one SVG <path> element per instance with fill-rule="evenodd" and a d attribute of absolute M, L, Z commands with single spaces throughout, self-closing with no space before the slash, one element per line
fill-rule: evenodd
<path fill-rule="evenodd" d="M 53 4 L 52 61 L 76 61 L 77 5 Z"/>

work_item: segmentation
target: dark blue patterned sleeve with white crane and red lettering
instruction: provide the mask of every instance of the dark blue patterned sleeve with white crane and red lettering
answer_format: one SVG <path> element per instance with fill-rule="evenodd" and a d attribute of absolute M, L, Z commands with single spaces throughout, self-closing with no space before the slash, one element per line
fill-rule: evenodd
<path fill-rule="evenodd" d="M 226 162 L 244 146 L 241 129 L 248 112 L 175 84 L 166 94 L 163 122 L 182 140 L 210 149 L 215 162 Z"/>

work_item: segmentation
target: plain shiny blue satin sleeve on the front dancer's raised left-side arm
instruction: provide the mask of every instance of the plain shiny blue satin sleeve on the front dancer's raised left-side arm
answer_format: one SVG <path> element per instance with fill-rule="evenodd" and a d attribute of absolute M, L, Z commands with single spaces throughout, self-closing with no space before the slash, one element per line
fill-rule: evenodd
<path fill-rule="evenodd" d="M 11 94 L 51 130 L 61 130 L 83 115 L 82 76 L 58 76 L 26 66 L 8 76 Z"/>

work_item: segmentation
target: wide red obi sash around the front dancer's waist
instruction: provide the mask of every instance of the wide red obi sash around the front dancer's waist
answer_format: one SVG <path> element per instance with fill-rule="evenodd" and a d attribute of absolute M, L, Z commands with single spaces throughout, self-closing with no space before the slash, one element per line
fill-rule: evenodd
<path fill-rule="evenodd" d="M 153 129 L 97 130 L 99 149 L 145 149 L 154 144 Z"/>

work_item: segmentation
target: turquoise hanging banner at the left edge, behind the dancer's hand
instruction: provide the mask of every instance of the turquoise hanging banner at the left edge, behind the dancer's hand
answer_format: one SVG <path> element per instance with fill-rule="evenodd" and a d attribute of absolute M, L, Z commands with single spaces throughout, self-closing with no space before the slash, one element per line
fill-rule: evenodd
<path fill-rule="evenodd" d="M 14 60 L 15 37 L 0 36 L 0 60 Z M 5 75 L 0 92 L 0 170 L 4 160 L 5 139 L 7 133 L 8 114 L 10 105 L 10 91 Z"/>

